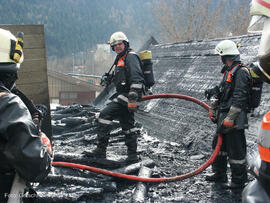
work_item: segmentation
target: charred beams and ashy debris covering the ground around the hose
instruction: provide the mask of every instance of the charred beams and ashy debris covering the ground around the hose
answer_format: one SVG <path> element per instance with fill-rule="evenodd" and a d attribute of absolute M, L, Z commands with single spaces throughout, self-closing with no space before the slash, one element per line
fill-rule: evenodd
<path fill-rule="evenodd" d="M 176 102 L 178 105 L 181 103 L 183 102 Z M 141 107 L 143 108 L 147 108 L 147 105 Z M 119 168 L 126 166 L 123 161 L 126 158 L 126 147 L 117 122 L 115 130 L 111 133 L 107 160 L 85 155 L 96 147 L 96 126 L 92 120 L 95 112 L 98 112 L 98 109 L 80 105 L 60 107 L 53 111 L 54 161 L 81 163 L 113 171 L 119 171 Z M 146 114 L 146 112 L 140 111 L 138 114 Z M 141 127 L 138 154 L 152 169 L 152 177 L 171 177 L 193 171 L 210 157 L 214 125 L 203 109 L 200 115 L 201 119 L 204 118 L 201 126 L 194 125 L 194 121 L 188 116 L 186 115 L 184 119 L 189 125 L 189 131 L 183 130 L 182 134 L 174 138 L 170 137 L 169 132 L 157 138 Z M 89 118 L 90 122 L 86 122 Z M 258 120 L 254 117 L 252 119 Z M 143 123 L 137 125 L 143 126 Z M 174 141 L 169 141 L 170 139 Z M 248 141 L 249 148 L 254 148 L 253 137 L 248 137 Z M 135 168 L 129 174 L 138 175 L 139 168 Z M 204 174 L 210 171 L 208 168 L 195 177 L 178 182 L 150 183 L 145 201 L 240 202 L 241 191 L 223 190 L 219 184 L 204 181 Z M 49 178 L 37 187 L 37 191 L 40 196 L 39 202 L 131 202 L 136 185 L 136 182 L 124 179 L 55 167 Z"/>

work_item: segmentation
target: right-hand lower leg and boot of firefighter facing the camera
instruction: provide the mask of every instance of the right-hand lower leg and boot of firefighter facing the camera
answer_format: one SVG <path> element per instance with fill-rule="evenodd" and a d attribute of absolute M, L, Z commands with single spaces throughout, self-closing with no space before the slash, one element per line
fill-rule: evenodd
<path fill-rule="evenodd" d="M 137 134 L 136 133 L 125 134 L 125 144 L 127 146 L 127 155 L 128 155 L 126 162 L 128 164 L 138 162 L 139 159 L 137 156 Z"/>

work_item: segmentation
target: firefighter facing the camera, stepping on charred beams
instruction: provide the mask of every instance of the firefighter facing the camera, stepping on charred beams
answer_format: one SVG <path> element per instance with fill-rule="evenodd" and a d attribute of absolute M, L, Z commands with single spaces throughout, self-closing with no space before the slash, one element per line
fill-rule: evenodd
<path fill-rule="evenodd" d="M 117 54 L 114 61 L 115 69 L 112 82 L 116 87 L 116 94 L 98 117 L 98 144 L 93 151 L 95 156 L 106 158 L 109 134 L 114 119 L 120 121 L 120 126 L 125 135 L 125 144 L 129 162 L 137 161 L 137 135 L 135 128 L 134 112 L 137 110 L 137 101 L 143 93 L 144 77 L 141 64 L 136 53 L 129 47 L 129 41 L 123 32 L 111 35 L 109 44 Z"/>

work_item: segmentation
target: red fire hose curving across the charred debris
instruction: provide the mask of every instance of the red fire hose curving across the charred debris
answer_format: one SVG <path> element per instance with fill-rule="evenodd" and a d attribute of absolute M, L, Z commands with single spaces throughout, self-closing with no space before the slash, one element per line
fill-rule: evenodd
<path fill-rule="evenodd" d="M 209 106 L 206 103 L 204 103 L 204 102 L 202 102 L 194 97 L 181 95 L 181 94 L 156 94 L 156 95 L 144 96 L 142 98 L 142 101 L 146 101 L 146 100 L 150 100 L 150 99 L 159 99 L 159 98 L 184 99 L 184 100 L 199 104 L 207 111 L 209 110 Z M 221 134 L 219 134 L 217 146 L 216 146 L 213 154 L 211 155 L 210 159 L 207 162 L 205 162 L 203 165 L 201 165 L 198 169 L 196 169 L 194 171 L 191 171 L 191 172 L 183 174 L 183 175 L 168 177 L 168 178 L 142 178 L 142 177 L 138 177 L 138 176 L 115 173 L 115 172 L 111 172 L 111 171 L 100 169 L 100 168 L 95 168 L 95 167 L 81 165 L 81 164 L 68 163 L 68 162 L 53 162 L 52 165 L 58 166 L 58 167 L 68 167 L 68 168 L 74 168 L 74 169 L 89 170 L 89 171 L 92 171 L 94 173 L 100 173 L 103 175 L 109 175 L 109 176 L 113 176 L 113 177 L 117 177 L 117 178 L 124 178 L 124 179 L 138 181 L 138 182 L 152 182 L 152 183 L 172 182 L 172 181 L 179 181 L 179 180 L 183 180 L 186 178 L 190 178 L 192 176 L 195 176 L 195 175 L 201 173 L 203 170 L 205 170 L 208 166 L 210 166 L 213 163 L 213 161 L 217 157 L 217 155 L 220 151 L 221 144 L 222 144 L 222 137 L 221 137 Z"/>

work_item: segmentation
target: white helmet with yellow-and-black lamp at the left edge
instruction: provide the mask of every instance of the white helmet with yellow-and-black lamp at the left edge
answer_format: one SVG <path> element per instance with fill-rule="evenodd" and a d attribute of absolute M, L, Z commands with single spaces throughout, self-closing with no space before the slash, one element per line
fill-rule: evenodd
<path fill-rule="evenodd" d="M 23 33 L 16 39 L 10 31 L 0 28 L 0 71 L 17 71 L 20 68 L 22 48 Z"/>

